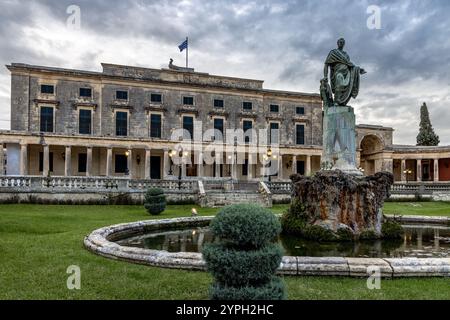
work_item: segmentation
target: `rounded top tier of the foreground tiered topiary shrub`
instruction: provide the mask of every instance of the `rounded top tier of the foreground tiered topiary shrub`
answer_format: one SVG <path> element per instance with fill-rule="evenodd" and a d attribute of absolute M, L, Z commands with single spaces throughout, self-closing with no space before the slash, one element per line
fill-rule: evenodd
<path fill-rule="evenodd" d="M 281 232 L 279 219 L 268 209 L 240 204 L 222 209 L 211 230 L 225 242 L 244 248 L 261 248 Z"/>

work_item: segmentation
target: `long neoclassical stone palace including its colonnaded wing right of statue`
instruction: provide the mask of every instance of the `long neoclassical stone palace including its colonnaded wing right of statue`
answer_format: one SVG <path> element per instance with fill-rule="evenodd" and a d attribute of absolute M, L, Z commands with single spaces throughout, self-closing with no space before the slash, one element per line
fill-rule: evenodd
<path fill-rule="evenodd" d="M 318 94 L 268 90 L 260 80 L 193 70 L 102 67 L 103 72 L 90 72 L 7 66 L 11 130 L 0 131 L 0 174 L 287 181 L 292 173 L 309 175 L 321 167 Z M 265 147 L 277 163 L 276 174 L 261 174 L 264 164 L 245 148 L 252 136 L 222 139 L 227 153 L 213 163 L 189 152 L 180 154 L 186 161 L 175 163 L 179 141 L 173 133 L 184 129 L 194 135 L 199 124 L 202 132 L 223 134 L 269 130 Z M 450 147 L 394 145 L 393 131 L 358 126 L 358 158 L 365 174 L 391 171 L 396 181 L 450 181 Z M 276 156 L 271 144 L 277 145 Z M 234 160 L 238 157 L 242 161 Z"/>

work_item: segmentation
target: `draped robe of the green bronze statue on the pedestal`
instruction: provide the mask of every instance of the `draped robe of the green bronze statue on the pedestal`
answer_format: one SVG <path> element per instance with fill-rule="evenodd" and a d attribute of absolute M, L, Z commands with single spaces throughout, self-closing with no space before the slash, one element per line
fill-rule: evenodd
<path fill-rule="evenodd" d="M 331 89 L 334 93 L 334 102 L 345 106 L 351 98 L 359 93 L 360 68 L 354 66 L 345 51 L 331 50 L 325 64 L 331 68 Z"/>

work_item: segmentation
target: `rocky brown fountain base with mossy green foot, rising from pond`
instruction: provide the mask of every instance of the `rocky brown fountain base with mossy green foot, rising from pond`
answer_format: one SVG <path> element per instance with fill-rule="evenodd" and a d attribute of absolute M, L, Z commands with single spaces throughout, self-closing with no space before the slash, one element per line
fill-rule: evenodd
<path fill-rule="evenodd" d="M 384 201 L 394 183 L 391 173 L 362 177 L 333 170 L 291 179 L 293 201 L 282 219 L 286 233 L 322 241 L 395 238 L 402 233 L 400 225 L 383 223 Z"/>

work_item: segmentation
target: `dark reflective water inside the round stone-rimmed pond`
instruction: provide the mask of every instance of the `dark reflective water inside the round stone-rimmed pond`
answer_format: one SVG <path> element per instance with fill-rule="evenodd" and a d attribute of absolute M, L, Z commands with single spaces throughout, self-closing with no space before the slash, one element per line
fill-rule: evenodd
<path fill-rule="evenodd" d="M 450 257 L 450 227 L 405 225 L 401 240 L 319 243 L 281 236 L 287 256 L 359 258 L 446 258 Z M 203 245 L 215 242 L 208 228 L 167 230 L 116 241 L 122 246 L 169 252 L 201 252 Z"/>

